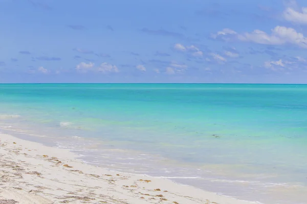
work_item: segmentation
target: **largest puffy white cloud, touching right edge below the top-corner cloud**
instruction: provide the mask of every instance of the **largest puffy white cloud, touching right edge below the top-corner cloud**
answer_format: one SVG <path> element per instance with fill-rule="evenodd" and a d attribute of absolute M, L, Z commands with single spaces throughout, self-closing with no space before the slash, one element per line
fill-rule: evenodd
<path fill-rule="evenodd" d="M 238 35 L 238 39 L 258 44 L 280 45 L 289 43 L 307 48 L 307 39 L 302 33 L 298 33 L 292 28 L 282 26 L 277 26 L 272 29 L 271 34 L 267 34 L 260 30 L 254 30 L 251 33 Z"/>

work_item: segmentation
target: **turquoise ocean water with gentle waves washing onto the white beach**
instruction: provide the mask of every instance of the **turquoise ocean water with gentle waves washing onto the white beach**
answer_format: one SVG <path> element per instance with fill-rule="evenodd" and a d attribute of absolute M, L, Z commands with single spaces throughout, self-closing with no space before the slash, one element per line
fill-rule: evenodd
<path fill-rule="evenodd" d="M 108 169 L 307 203 L 307 85 L 1 84 L 0 129 Z"/>

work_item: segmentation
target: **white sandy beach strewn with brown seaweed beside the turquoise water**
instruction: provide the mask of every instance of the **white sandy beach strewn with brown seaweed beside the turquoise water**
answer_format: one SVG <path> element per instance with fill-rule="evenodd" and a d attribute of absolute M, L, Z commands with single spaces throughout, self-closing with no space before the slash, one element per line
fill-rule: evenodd
<path fill-rule="evenodd" d="M 77 157 L 68 149 L 0 134 L 0 201 L 6 201 L 1 203 L 259 203 L 106 170 Z"/>

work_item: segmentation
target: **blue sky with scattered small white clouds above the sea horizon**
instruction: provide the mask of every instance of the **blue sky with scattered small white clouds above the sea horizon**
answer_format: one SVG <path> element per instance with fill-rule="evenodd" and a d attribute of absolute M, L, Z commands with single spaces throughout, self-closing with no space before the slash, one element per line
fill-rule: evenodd
<path fill-rule="evenodd" d="M 0 83 L 307 83 L 307 1 L 0 0 Z"/>

